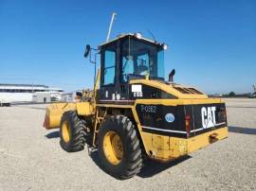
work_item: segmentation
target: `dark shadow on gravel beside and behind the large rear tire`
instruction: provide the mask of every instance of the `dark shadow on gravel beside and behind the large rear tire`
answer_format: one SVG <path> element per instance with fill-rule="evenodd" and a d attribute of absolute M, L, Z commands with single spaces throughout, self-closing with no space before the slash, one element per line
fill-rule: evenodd
<path fill-rule="evenodd" d="M 101 169 L 101 162 L 100 162 L 100 158 L 98 155 L 98 151 L 94 150 L 92 152 L 90 152 L 90 156 L 92 158 L 92 160 L 94 161 L 94 163 L 96 165 L 98 165 Z M 180 157 L 174 161 L 171 161 L 169 163 L 159 163 L 153 160 L 146 160 L 144 163 L 144 167 L 141 169 L 141 171 L 137 174 L 138 177 L 140 178 L 150 178 L 155 176 L 156 174 L 170 168 L 173 167 L 174 165 L 178 165 L 184 161 L 187 161 L 188 159 L 192 158 L 189 155 L 185 155 L 183 157 Z M 102 169 L 105 173 L 109 174 L 108 172 L 106 172 L 104 169 Z M 112 176 L 112 175 L 111 175 Z"/>

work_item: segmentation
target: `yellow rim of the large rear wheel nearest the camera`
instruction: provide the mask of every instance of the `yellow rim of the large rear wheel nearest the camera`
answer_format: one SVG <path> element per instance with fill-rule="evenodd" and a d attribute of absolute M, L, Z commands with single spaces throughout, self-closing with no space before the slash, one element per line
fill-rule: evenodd
<path fill-rule="evenodd" d="M 103 150 L 109 163 L 112 165 L 119 165 L 123 157 L 123 147 L 117 132 L 111 130 L 105 134 L 103 139 Z"/>

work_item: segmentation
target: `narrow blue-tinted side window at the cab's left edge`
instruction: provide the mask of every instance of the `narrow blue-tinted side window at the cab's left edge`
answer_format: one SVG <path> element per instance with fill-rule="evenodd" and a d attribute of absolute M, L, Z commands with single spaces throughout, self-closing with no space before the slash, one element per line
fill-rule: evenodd
<path fill-rule="evenodd" d="M 104 78 L 103 85 L 110 85 L 115 83 L 116 74 L 116 52 L 106 50 L 104 53 Z"/>

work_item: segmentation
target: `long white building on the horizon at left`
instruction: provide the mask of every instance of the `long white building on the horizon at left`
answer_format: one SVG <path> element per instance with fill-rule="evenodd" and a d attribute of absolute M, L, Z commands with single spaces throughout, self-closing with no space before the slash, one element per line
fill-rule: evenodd
<path fill-rule="evenodd" d="M 49 102 L 61 100 L 63 90 L 35 84 L 0 83 L 0 102 Z"/>

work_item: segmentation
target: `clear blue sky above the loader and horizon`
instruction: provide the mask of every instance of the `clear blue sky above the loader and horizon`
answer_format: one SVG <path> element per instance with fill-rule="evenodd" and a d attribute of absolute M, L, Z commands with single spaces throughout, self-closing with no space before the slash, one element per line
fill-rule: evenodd
<path fill-rule="evenodd" d="M 208 93 L 248 93 L 256 84 L 256 1 L 0 0 L 0 83 L 73 91 L 93 86 L 89 43 L 141 32 L 167 43 L 165 76 Z M 99 67 L 99 61 L 97 66 Z"/>

